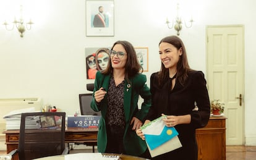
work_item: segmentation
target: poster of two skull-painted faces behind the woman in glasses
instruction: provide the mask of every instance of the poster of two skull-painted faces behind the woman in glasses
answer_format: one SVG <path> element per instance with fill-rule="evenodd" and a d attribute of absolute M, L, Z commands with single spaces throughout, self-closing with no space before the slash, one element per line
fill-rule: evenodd
<path fill-rule="evenodd" d="M 98 70 L 106 69 L 109 61 L 109 48 L 85 48 L 87 79 L 95 79 Z"/>

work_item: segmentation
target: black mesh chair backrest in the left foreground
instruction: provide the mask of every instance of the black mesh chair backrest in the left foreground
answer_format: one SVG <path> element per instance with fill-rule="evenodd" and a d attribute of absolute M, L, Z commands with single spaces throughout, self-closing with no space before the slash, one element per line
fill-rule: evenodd
<path fill-rule="evenodd" d="M 19 159 L 62 154 L 65 149 L 65 112 L 22 113 Z"/>

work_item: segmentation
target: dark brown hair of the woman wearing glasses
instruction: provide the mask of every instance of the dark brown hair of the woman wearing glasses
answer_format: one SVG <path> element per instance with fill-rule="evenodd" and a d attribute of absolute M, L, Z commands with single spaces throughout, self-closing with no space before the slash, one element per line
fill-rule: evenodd
<path fill-rule="evenodd" d="M 121 44 L 127 53 L 127 61 L 125 66 L 125 77 L 126 80 L 128 80 L 130 77 L 134 77 L 134 75 L 138 74 L 139 72 L 143 72 L 142 66 L 139 64 L 139 61 L 137 59 L 137 54 L 134 49 L 134 46 L 129 43 L 129 41 L 116 41 L 116 43 L 113 44 L 111 50 L 114 48 L 116 44 Z M 111 65 L 111 59 L 108 61 L 108 67 L 106 67 L 105 70 L 101 71 L 102 74 L 113 74 L 113 67 Z"/>

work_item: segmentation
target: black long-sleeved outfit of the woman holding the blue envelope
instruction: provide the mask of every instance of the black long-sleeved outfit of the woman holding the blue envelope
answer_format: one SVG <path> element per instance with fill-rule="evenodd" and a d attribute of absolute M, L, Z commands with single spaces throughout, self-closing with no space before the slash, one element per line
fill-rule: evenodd
<path fill-rule="evenodd" d="M 170 152 L 168 156 L 179 157 L 179 159 L 197 159 L 197 142 L 195 140 L 195 129 L 207 125 L 210 117 L 210 100 L 208 96 L 206 80 L 203 72 L 190 71 L 185 84 L 182 86 L 176 77 L 173 90 L 171 88 L 171 78 L 158 85 L 158 73 L 150 77 L 150 91 L 152 94 L 152 106 L 148 112 L 147 119 L 153 120 L 161 114 L 168 116 L 191 115 L 190 124 L 176 125 L 179 132 L 182 148 Z M 198 111 L 192 111 L 197 104 Z M 183 158 L 182 158 L 183 157 Z M 163 157 L 162 157 L 163 158 Z"/>

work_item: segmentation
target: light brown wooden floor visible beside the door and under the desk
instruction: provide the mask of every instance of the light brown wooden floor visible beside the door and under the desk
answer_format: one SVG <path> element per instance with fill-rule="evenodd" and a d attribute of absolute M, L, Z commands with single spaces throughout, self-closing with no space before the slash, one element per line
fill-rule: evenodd
<path fill-rule="evenodd" d="M 92 149 L 75 147 L 70 153 L 92 152 Z M 89 147 L 90 148 L 90 147 Z M 6 154 L 6 151 L 0 151 Z M 256 146 L 226 146 L 226 160 L 254 160 L 256 159 Z M 210 160 L 210 159 L 209 159 Z"/>

